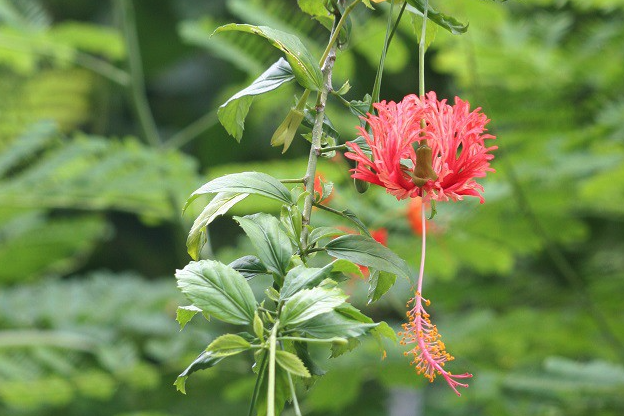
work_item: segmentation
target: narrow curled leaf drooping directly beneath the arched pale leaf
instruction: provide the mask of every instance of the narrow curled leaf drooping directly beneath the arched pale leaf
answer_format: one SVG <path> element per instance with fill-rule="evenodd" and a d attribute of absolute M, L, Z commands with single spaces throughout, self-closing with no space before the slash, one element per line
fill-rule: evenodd
<path fill-rule="evenodd" d="M 249 194 L 238 194 L 231 192 L 218 193 L 201 214 L 193 222 L 186 240 L 186 249 L 193 260 L 199 259 L 199 253 L 206 244 L 206 226 L 208 226 L 219 215 L 225 214 L 234 205 L 245 199 Z"/>

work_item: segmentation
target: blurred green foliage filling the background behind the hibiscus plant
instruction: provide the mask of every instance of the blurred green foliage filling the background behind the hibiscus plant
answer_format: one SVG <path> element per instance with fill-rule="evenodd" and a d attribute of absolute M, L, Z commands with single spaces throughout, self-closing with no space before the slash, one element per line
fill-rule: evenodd
<path fill-rule="evenodd" d="M 461 36 L 437 32 L 427 89 L 483 107 L 499 146 L 486 203 L 439 204 L 428 244 L 426 297 L 457 357 L 449 368 L 475 377 L 457 399 L 442 383 L 425 384 L 396 346 L 381 361 L 364 343 L 348 356 L 315 357 L 329 371 L 302 409 L 389 414 L 407 391 L 419 403 L 412 414 L 619 415 L 624 1 L 434 3 L 470 26 Z M 216 125 L 216 108 L 279 54 L 251 36 L 209 35 L 230 21 L 269 25 L 319 55 L 327 31 L 295 2 L 134 1 L 163 149 L 146 144 L 132 113 L 116 7 L 0 1 L 0 414 L 241 414 L 253 389 L 241 361 L 199 372 L 188 397 L 171 385 L 214 338 L 214 323 L 195 318 L 179 334 L 174 322 L 173 269 L 187 263 L 185 234 L 201 209 L 180 217 L 182 201 L 225 173 L 297 176 L 307 142 L 297 138 L 287 159 L 269 146 L 301 93 L 292 85 L 255 100 L 240 145 Z M 349 100 L 372 88 L 387 10 L 354 13 L 334 79 L 349 80 Z M 416 91 L 415 51 L 404 18 L 382 98 Z M 354 138 L 357 121 L 339 102 L 329 115 L 341 141 Z M 344 159 L 319 169 L 334 182 L 331 206 L 386 228 L 388 245 L 415 267 L 413 208 L 380 189 L 359 197 Z M 249 198 L 230 214 L 252 206 L 276 208 Z M 336 225 L 322 212 L 313 221 Z M 204 256 L 222 261 L 253 251 L 229 218 L 211 225 L 210 243 Z M 365 282 L 347 285 L 359 307 L 399 326 L 409 282 L 369 309 Z"/>

